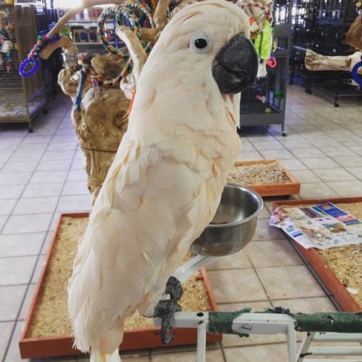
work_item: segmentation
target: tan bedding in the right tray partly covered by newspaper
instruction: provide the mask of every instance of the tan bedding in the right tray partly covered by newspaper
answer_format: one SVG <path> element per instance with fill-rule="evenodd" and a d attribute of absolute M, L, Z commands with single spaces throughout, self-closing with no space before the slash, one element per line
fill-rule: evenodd
<path fill-rule="evenodd" d="M 283 205 L 283 207 L 303 206 L 312 206 L 312 204 Z M 362 220 L 362 202 L 336 203 L 336 207 Z M 356 290 L 355 294 L 350 292 L 350 295 L 362 309 L 362 244 L 339 246 L 317 252 L 344 287 Z"/>

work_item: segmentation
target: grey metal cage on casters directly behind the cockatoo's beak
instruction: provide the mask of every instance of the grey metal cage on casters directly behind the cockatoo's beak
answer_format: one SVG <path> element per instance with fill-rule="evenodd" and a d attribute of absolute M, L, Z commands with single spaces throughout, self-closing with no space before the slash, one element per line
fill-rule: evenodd
<path fill-rule="evenodd" d="M 241 93 L 240 125 L 280 124 L 283 136 L 287 97 L 287 72 L 290 53 L 291 3 L 277 1 L 274 9 L 274 40 L 277 43 L 275 68 L 267 66 L 268 75 Z"/>

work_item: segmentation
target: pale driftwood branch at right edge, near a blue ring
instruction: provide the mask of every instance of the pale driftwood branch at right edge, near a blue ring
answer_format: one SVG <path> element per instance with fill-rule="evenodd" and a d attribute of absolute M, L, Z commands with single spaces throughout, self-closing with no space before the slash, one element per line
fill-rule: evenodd
<path fill-rule="evenodd" d="M 351 72 L 354 65 L 361 60 L 361 52 L 352 55 L 328 57 L 315 53 L 313 50 L 307 49 L 305 55 L 305 66 L 308 70 L 344 70 Z M 362 74 L 362 69 L 358 70 Z"/>

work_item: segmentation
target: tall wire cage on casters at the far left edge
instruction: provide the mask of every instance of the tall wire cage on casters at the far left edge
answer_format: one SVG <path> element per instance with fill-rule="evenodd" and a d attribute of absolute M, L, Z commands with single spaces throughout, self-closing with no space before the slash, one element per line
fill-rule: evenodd
<path fill-rule="evenodd" d="M 28 122 L 29 131 L 33 131 L 32 119 L 42 109 L 46 111 L 43 75 L 37 72 L 33 77 L 21 77 L 18 66 L 36 42 L 35 4 L 0 4 L 0 10 L 7 14 L 6 25 L 13 25 L 7 31 L 7 38 L 13 44 L 11 69 L 0 67 L 0 123 Z"/>

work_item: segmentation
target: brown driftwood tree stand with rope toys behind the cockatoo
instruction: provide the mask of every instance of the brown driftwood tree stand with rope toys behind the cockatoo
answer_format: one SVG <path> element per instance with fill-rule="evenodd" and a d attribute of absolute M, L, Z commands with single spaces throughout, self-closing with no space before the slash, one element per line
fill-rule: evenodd
<path fill-rule="evenodd" d="M 82 6 L 68 11 L 58 21 L 48 36 L 59 33 L 60 28 L 85 7 L 109 3 L 121 4 L 122 2 L 123 0 L 118 0 L 118 2 L 117 0 L 84 0 Z M 169 3 L 170 0 L 160 0 L 158 2 L 155 11 L 156 28 L 143 28 L 143 40 L 148 40 L 152 43 L 158 40 L 158 36 L 168 23 Z M 126 132 L 129 99 L 131 99 L 143 65 L 147 60 L 147 54 L 141 45 L 141 41 L 130 28 L 119 26 L 116 28 L 116 34 L 124 41 L 130 53 L 133 61 L 131 74 L 121 80 L 120 88 L 101 87 L 101 89 L 98 89 L 98 87 L 95 87 L 93 89 L 90 82 L 85 82 L 80 109 L 79 111 L 75 109 L 72 111 L 72 124 L 78 136 L 79 146 L 82 148 L 86 158 L 87 184 L 89 191 L 94 194 L 94 199 L 97 197 L 116 155 L 119 143 Z M 66 42 L 67 40 L 62 41 Z M 70 40 L 69 42 L 72 43 Z M 44 56 L 49 56 L 58 46 L 65 48 L 63 45 L 68 47 L 68 51 L 70 51 L 69 49 L 74 49 L 71 48 L 69 43 L 55 43 L 53 48 L 49 48 L 48 52 L 45 52 L 47 49 L 44 50 Z M 96 55 L 92 59 L 94 71 L 105 79 L 111 79 L 119 75 L 125 64 L 125 58 L 119 58 L 111 54 Z M 66 68 L 60 72 L 58 77 L 58 82 L 63 91 L 73 99 L 77 94 L 75 75 L 75 69 Z"/>

